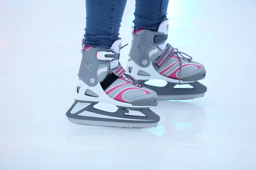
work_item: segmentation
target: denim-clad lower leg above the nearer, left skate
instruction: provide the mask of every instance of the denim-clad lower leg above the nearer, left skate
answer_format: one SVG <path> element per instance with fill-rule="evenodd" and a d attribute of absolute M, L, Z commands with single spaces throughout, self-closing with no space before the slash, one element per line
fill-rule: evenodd
<path fill-rule="evenodd" d="M 120 23 L 127 0 L 86 0 L 84 44 L 110 48 L 119 36 Z"/>

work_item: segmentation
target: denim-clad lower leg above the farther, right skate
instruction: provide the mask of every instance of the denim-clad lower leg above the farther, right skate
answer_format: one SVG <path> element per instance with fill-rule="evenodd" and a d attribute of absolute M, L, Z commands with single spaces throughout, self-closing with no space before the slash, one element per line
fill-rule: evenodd
<path fill-rule="evenodd" d="M 167 20 L 169 0 L 136 0 L 134 12 L 134 29 L 157 31 L 158 26 Z"/>

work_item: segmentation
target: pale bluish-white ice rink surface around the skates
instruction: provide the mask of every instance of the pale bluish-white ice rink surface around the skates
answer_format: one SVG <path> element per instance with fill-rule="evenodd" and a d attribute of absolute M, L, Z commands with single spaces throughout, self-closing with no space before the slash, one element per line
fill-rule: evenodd
<path fill-rule="evenodd" d="M 123 45 L 131 43 L 134 3 L 121 23 Z M 254 0 L 171 0 L 168 42 L 204 64 L 208 91 L 159 102 L 155 128 L 122 129 L 65 116 L 81 61 L 84 0 L 0 0 L 0 170 L 255 170 L 255 7 Z"/>

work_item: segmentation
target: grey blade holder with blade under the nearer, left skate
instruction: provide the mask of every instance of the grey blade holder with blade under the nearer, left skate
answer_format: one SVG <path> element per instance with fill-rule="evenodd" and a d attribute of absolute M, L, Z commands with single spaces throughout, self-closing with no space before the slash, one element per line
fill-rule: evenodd
<path fill-rule="evenodd" d="M 93 106 L 99 102 L 75 100 L 66 116 L 72 123 L 105 127 L 148 128 L 156 127 L 160 116 L 149 108 L 119 107 L 115 112 L 102 111 Z M 139 111 L 140 116 L 129 115 L 130 111 Z M 141 114 L 142 113 L 142 114 Z"/>

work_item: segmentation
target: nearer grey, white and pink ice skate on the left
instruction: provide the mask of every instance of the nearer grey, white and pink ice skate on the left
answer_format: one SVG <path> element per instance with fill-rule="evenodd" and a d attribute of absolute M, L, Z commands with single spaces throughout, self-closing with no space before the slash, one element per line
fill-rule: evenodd
<path fill-rule="evenodd" d="M 119 38 L 110 49 L 86 47 L 81 51 L 75 102 L 66 113 L 70 122 L 108 127 L 157 126 L 160 116 L 149 106 L 157 105 L 158 96 L 125 74 L 125 69 L 118 62 L 120 47 Z M 97 107 L 99 104 L 104 108 Z M 104 110 L 110 107 L 116 109 Z M 136 111 L 136 114 L 131 114 L 131 111 Z"/>

